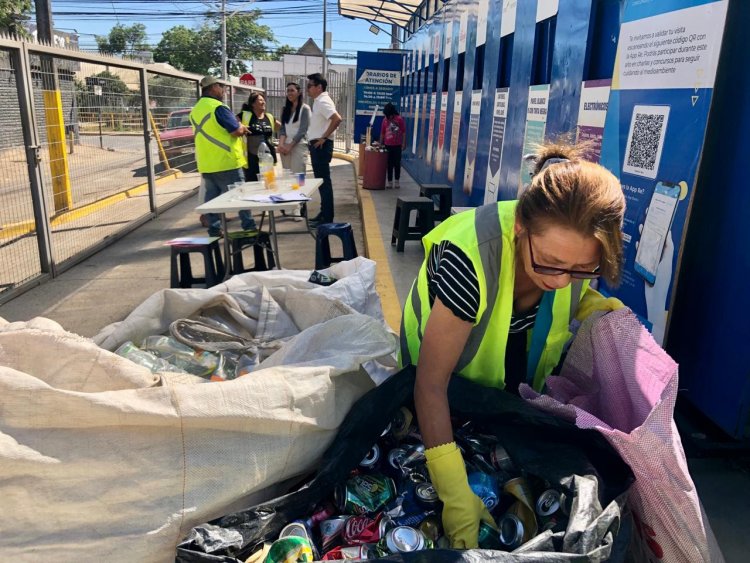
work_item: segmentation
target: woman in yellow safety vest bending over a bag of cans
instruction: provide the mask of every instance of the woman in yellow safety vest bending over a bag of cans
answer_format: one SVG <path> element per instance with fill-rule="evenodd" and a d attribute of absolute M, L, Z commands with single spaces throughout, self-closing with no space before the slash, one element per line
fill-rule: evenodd
<path fill-rule="evenodd" d="M 617 179 L 565 144 L 540 147 L 518 201 L 459 213 L 424 237 L 426 259 L 404 307 L 401 363 L 415 364 L 414 401 L 427 468 L 451 546 L 477 547 L 492 522 L 453 441 L 452 373 L 537 391 L 560 362 L 572 322 L 622 307 L 589 288 L 616 284 L 625 198 Z"/>

